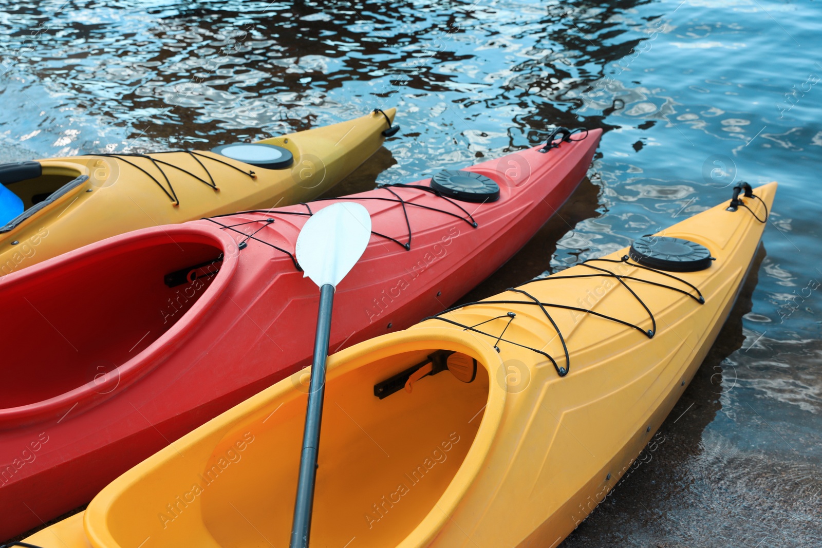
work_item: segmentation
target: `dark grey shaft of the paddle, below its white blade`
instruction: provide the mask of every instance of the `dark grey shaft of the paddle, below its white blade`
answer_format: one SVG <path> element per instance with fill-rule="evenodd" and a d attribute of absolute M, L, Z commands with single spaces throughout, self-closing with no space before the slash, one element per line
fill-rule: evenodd
<path fill-rule="evenodd" d="M 294 505 L 294 520 L 291 528 L 291 548 L 307 548 L 308 533 L 311 530 L 314 485 L 316 482 L 316 459 L 320 449 L 320 421 L 322 400 L 326 391 L 326 358 L 331 331 L 331 307 L 334 304 L 334 286 L 326 283 L 320 288 L 320 312 L 316 320 L 314 339 L 314 361 L 311 368 L 311 383 L 308 389 L 306 426 L 302 432 L 302 454 L 300 454 L 300 476 L 297 481 L 297 503 Z"/>

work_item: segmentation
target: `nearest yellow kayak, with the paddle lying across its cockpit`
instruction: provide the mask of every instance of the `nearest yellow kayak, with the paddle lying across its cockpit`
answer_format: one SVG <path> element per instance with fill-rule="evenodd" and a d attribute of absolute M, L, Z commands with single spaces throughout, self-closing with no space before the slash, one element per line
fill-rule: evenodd
<path fill-rule="evenodd" d="M 311 546 L 559 544 L 699 368 L 775 191 L 330 357 Z M 288 546 L 306 401 L 279 382 L 26 542 Z"/>

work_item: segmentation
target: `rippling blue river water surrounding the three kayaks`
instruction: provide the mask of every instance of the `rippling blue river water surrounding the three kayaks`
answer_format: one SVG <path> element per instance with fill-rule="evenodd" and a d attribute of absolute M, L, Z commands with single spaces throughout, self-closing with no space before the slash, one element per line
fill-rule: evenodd
<path fill-rule="evenodd" d="M 466 298 L 626 246 L 732 182 L 780 182 L 658 444 L 562 546 L 822 546 L 818 2 L 0 5 L 2 161 L 205 148 L 396 106 L 402 131 L 342 195 L 603 127 L 589 180 Z"/>

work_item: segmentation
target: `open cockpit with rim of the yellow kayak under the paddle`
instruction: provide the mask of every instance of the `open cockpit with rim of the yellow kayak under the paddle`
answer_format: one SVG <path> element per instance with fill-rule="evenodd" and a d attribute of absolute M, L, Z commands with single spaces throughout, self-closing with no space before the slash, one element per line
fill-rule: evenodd
<path fill-rule="evenodd" d="M 436 341 L 414 339 L 434 330 L 415 331 L 329 364 L 312 546 L 433 534 L 479 470 L 505 399 L 486 365 L 499 358 L 447 334 L 452 348 L 425 348 Z M 101 546 L 288 546 L 307 379 L 279 382 L 118 478 L 86 511 L 86 534 Z"/>

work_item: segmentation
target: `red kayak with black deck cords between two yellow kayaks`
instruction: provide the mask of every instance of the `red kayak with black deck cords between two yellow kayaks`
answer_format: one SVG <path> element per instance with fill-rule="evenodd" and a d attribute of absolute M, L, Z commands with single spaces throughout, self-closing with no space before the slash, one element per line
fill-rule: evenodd
<path fill-rule="evenodd" d="M 372 215 L 335 295 L 335 352 L 441 311 L 500 268 L 580 183 L 601 133 L 413 185 L 146 228 L 4 277 L 0 539 L 310 364 L 318 292 L 294 243 L 312 213 L 354 200 Z"/>

